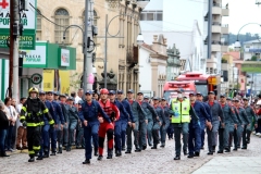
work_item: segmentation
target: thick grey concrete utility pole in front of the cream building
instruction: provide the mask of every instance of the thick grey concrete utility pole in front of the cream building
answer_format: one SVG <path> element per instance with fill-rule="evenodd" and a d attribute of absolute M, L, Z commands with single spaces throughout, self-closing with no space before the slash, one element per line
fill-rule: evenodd
<path fill-rule="evenodd" d="M 84 91 L 87 89 L 92 89 L 92 84 L 87 80 L 89 75 L 92 73 L 92 53 L 87 52 L 90 46 L 90 40 L 92 40 L 92 28 L 89 15 L 92 14 L 92 5 L 90 5 L 89 0 L 85 0 L 85 34 L 84 34 Z"/>

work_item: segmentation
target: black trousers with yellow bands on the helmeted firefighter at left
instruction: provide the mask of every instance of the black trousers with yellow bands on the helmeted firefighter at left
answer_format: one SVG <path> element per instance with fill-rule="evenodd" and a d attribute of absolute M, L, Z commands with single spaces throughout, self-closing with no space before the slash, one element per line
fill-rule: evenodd
<path fill-rule="evenodd" d="M 40 150 L 41 127 L 27 127 L 27 145 L 29 157 L 35 157 Z"/>

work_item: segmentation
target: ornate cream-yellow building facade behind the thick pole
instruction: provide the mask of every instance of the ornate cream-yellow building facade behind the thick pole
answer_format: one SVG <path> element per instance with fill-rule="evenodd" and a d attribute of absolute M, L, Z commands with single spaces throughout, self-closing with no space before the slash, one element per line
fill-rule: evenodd
<path fill-rule="evenodd" d="M 85 0 L 38 0 L 37 9 L 40 14 L 37 15 L 37 35 L 38 40 L 48 40 L 65 46 L 75 47 L 76 72 L 80 79 L 83 76 L 83 33 L 77 27 L 71 27 L 66 32 L 66 38 L 63 40 L 64 27 L 67 25 L 78 25 L 83 27 L 85 14 Z M 98 36 L 94 38 L 96 42 L 96 70 L 98 82 L 102 80 L 101 73 L 104 71 L 104 36 L 105 36 L 105 15 L 108 20 L 115 17 L 110 26 L 109 33 L 117 35 L 111 37 L 108 35 L 108 73 L 112 71 L 114 82 L 119 89 L 127 90 L 129 88 L 138 90 L 138 47 L 136 38 L 139 34 L 139 13 L 140 7 L 148 2 L 136 0 L 90 0 L 94 16 L 90 16 L 91 23 L 98 27 Z M 32 8 L 32 7 L 30 7 Z M 126 15 L 124 15 L 126 14 Z M 130 17 L 132 16 L 132 17 Z M 49 21 L 48 21 L 48 20 Z M 51 22 L 50 22 L 51 21 Z M 53 24 L 53 23 L 55 24 Z M 74 74 L 75 72 L 71 72 Z M 110 74 L 110 73 L 109 73 Z M 113 76 L 113 75 L 112 75 Z"/>

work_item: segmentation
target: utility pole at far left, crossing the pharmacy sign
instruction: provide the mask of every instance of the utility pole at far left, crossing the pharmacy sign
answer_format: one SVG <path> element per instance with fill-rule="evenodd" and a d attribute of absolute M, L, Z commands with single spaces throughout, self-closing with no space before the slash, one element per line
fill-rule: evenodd
<path fill-rule="evenodd" d="M 18 41 L 20 41 L 20 1 L 14 0 L 13 23 L 13 98 L 18 101 Z"/>

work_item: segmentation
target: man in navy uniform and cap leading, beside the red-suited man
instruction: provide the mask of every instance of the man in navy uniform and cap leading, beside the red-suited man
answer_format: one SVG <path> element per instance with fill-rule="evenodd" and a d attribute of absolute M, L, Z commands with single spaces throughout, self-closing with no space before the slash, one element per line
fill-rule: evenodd
<path fill-rule="evenodd" d="M 95 151 L 98 150 L 98 129 L 100 126 L 98 114 L 107 121 L 107 123 L 111 123 L 110 117 L 104 113 L 99 102 L 92 100 L 92 91 L 87 90 L 85 92 L 85 101 L 82 103 L 79 110 L 79 120 L 83 123 L 84 127 L 84 136 L 85 136 L 85 161 L 83 164 L 89 164 L 91 159 L 91 137 L 94 139 Z"/>

